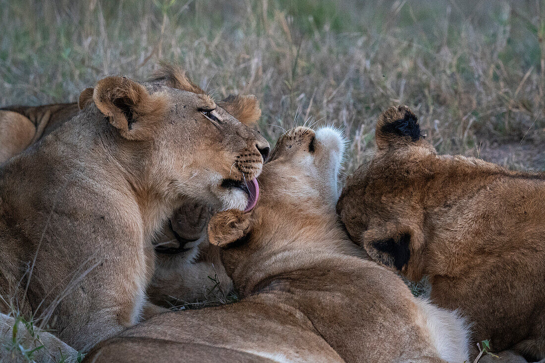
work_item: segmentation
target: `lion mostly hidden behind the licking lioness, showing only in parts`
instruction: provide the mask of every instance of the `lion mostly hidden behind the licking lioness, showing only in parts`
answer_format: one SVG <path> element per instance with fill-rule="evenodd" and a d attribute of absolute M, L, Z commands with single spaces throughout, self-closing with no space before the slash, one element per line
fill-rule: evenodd
<path fill-rule="evenodd" d="M 173 64 L 162 63 L 149 82 L 205 94 L 184 70 Z M 261 116 L 258 101 L 252 95 L 229 95 L 218 102 L 246 126 L 255 126 Z M 0 164 L 40 141 L 92 103 L 93 88 L 86 88 L 78 102 L 0 108 Z M 147 293 L 156 304 L 169 307 L 180 302 L 208 300 L 216 292 L 225 295 L 231 291 L 232 283 L 219 263 L 217 248 L 210 246 L 206 238 L 210 215 L 208 206 L 188 201 L 175 211 L 154 239 L 158 259 Z"/>

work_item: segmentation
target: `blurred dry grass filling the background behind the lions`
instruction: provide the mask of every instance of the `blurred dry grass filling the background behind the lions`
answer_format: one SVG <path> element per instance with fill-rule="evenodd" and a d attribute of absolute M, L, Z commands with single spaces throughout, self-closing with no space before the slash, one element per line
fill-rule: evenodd
<path fill-rule="evenodd" d="M 441 153 L 545 169 L 545 3 L 531 1 L 0 0 L 0 104 L 75 100 L 158 61 L 262 100 L 274 142 L 305 120 L 344 128 L 347 171 L 381 110 L 413 107 Z"/>

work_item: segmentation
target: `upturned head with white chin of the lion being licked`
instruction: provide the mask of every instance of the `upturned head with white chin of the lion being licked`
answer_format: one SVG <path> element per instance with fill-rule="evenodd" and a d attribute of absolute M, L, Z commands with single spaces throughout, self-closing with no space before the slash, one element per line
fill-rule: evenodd
<path fill-rule="evenodd" d="M 210 243 L 222 247 L 223 264 L 239 291 L 244 292 L 241 284 L 247 286 L 247 276 L 270 273 L 276 258 L 330 251 L 336 249 L 330 241 L 343 240 L 335 214 L 343 150 L 343 138 L 331 128 L 286 132 L 258 178 L 261 195 L 256 207 L 211 217 Z"/>

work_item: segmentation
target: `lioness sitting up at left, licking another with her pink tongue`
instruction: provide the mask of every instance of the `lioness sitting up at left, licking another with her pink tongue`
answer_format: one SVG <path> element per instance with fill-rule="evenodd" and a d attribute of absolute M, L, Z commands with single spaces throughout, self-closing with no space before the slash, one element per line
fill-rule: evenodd
<path fill-rule="evenodd" d="M 77 350 L 161 311 L 151 243 L 186 199 L 249 209 L 269 144 L 206 94 L 126 77 L 0 168 L 0 302 Z M 51 320 L 50 320 L 51 321 Z"/>

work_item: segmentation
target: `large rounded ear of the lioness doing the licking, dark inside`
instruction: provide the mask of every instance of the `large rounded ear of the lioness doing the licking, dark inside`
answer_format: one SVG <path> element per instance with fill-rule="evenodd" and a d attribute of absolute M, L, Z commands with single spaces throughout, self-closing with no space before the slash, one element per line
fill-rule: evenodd
<path fill-rule="evenodd" d="M 166 110 L 164 98 L 150 95 L 142 84 L 121 76 L 106 77 L 96 83 L 93 101 L 128 140 L 149 138 Z"/>

